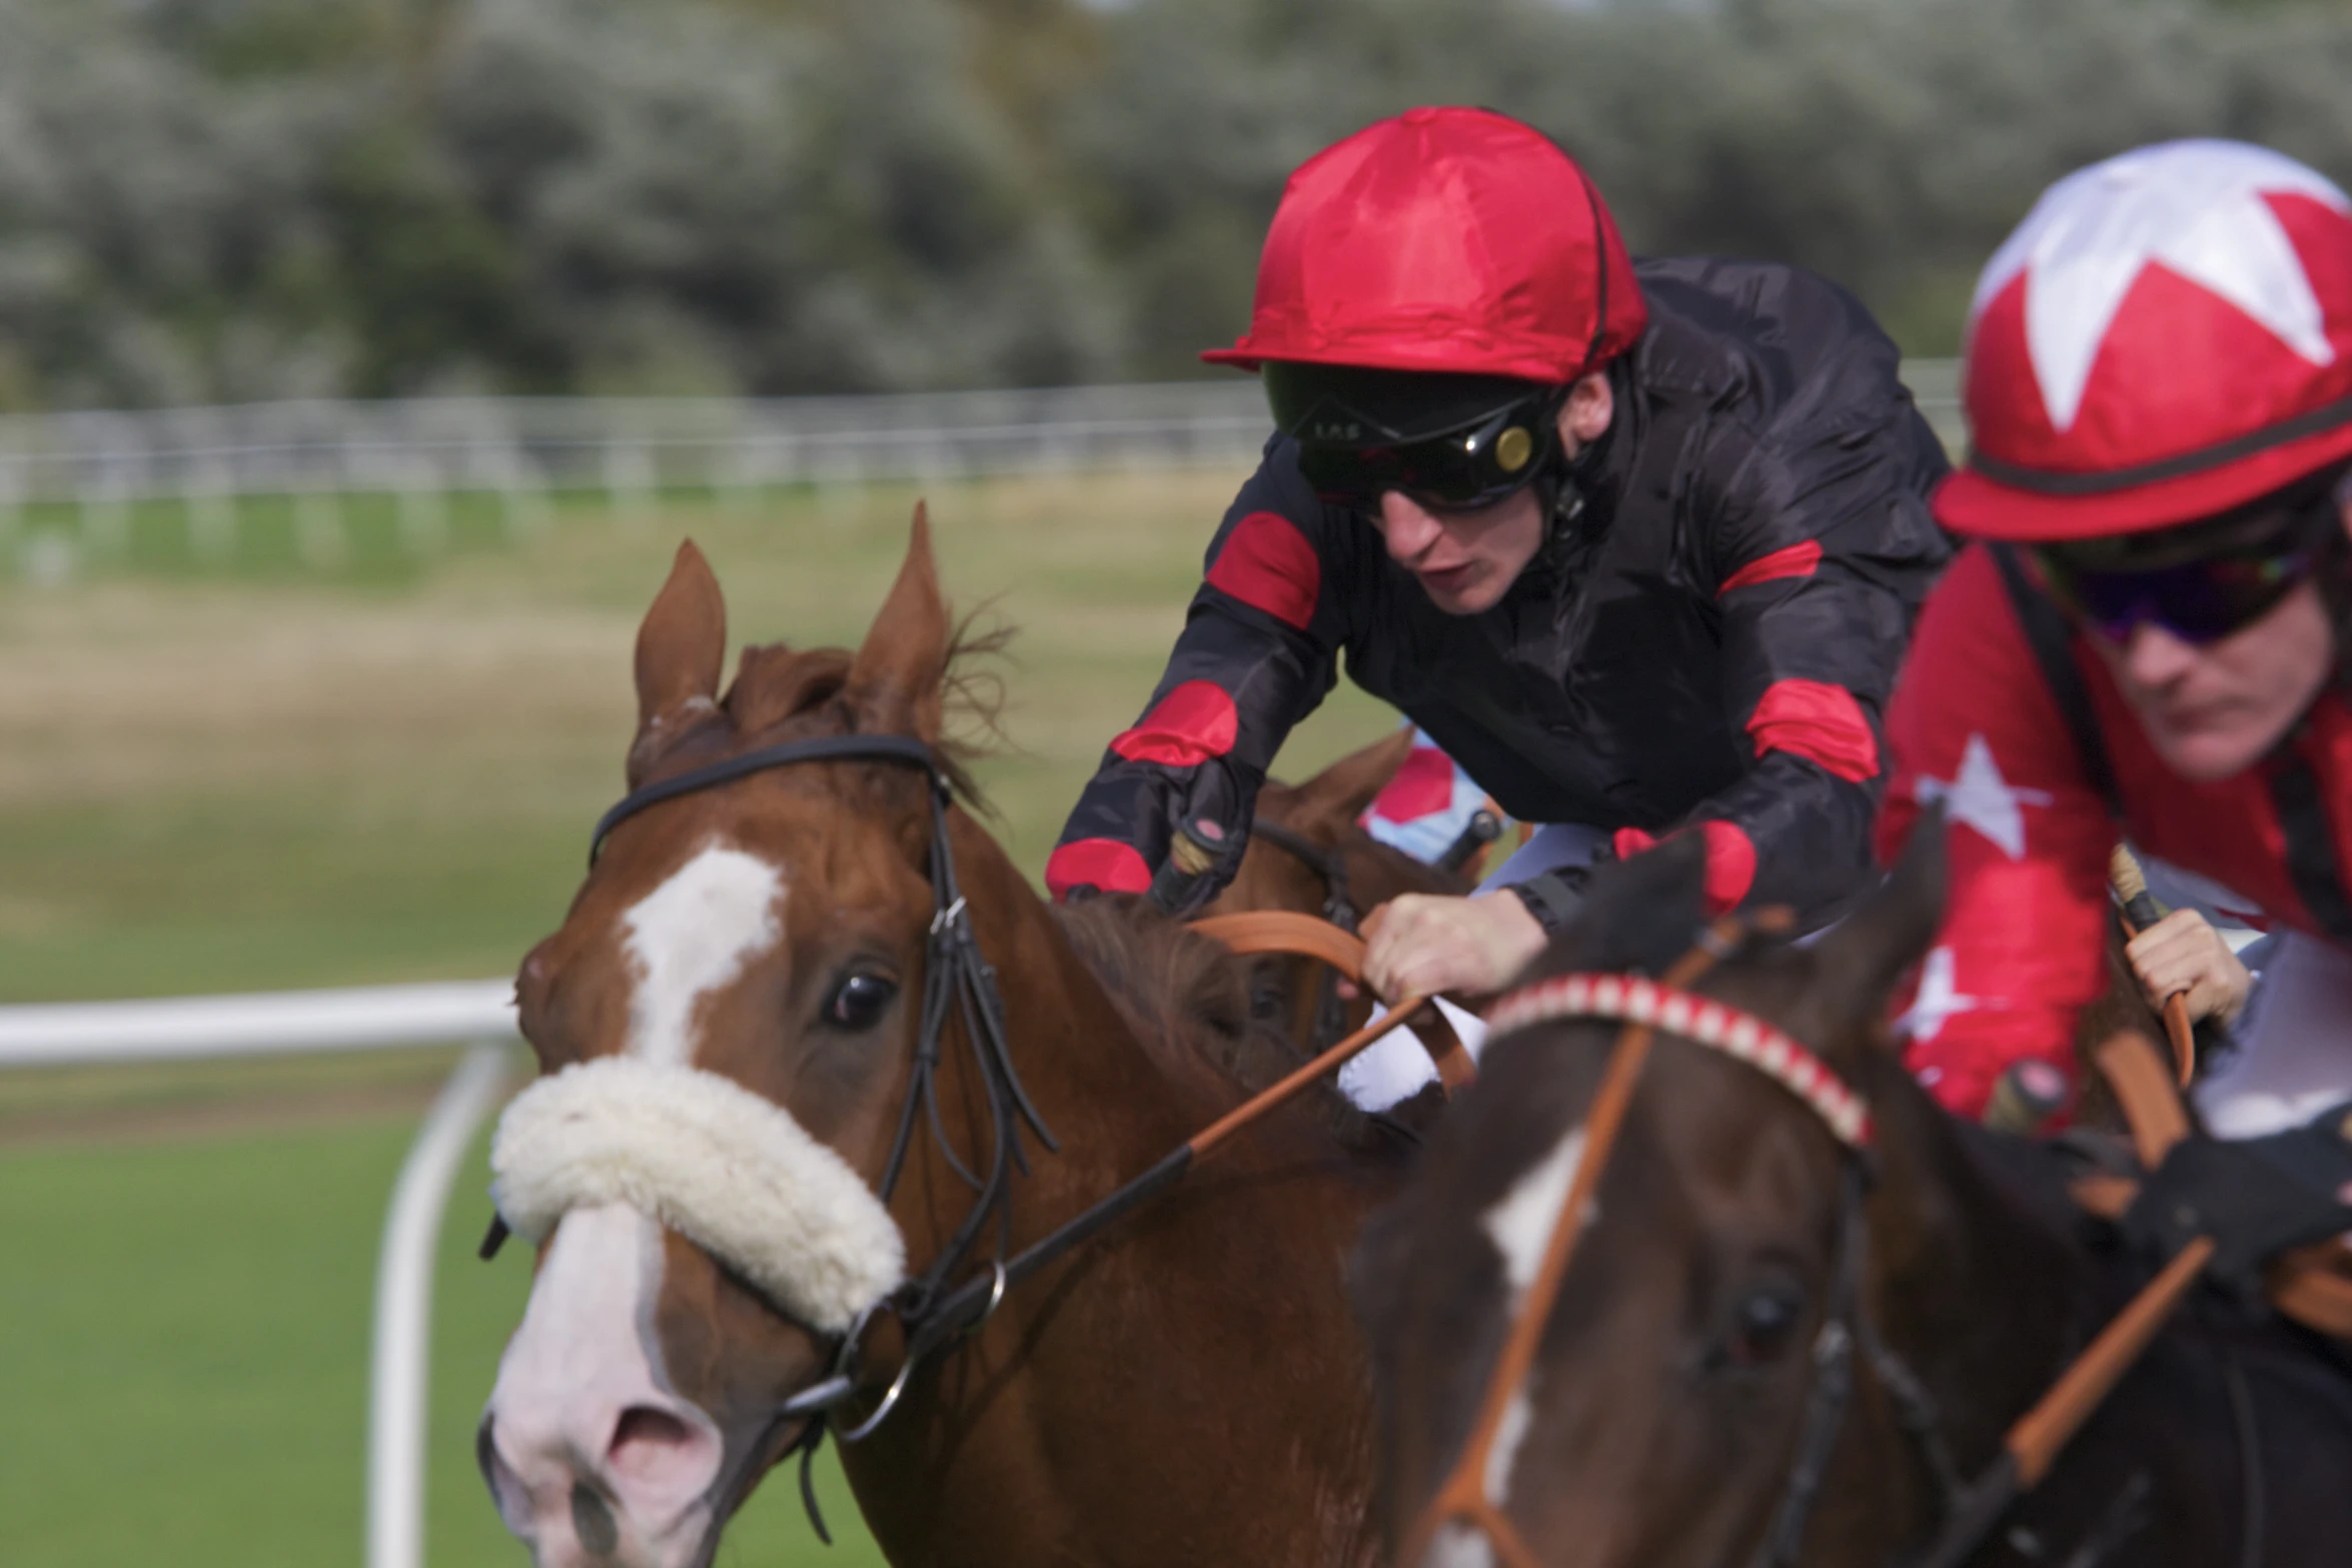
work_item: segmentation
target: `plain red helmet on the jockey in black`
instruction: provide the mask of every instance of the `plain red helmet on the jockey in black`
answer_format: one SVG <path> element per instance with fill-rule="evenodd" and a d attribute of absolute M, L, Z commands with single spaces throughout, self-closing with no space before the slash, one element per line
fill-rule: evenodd
<path fill-rule="evenodd" d="M 1632 348 L 1649 308 L 1599 190 L 1541 132 L 1409 108 L 1298 165 L 1258 259 L 1263 360 L 1573 381 Z"/>

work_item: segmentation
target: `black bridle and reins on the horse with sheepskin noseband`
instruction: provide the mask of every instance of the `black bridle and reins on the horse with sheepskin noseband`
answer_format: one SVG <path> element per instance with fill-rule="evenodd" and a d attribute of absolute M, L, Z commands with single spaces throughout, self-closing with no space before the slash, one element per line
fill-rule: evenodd
<path fill-rule="evenodd" d="M 913 1079 L 908 1084 L 906 1100 L 898 1107 L 898 1126 L 882 1171 L 880 1197 L 887 1204 L 901 1173 L 906 1171 L 917 1117 L 929 1124 L 931 1143 L 941 1150 L 948 1166 L 974 1190 L 969 1213 L 920 1276 L 866 1307 L 866 1312 L 861 1312 L 844 1333 L 816 1335 L 821 1342 L 830 1340 L 835 1347 L 828 1375 L 786 1399 L 769 1420 L 771 1436 L 781 1434 L 793 1422 L 804 1425 L 779 1458 L 788 1458 L 795 1450 L 800 1453 L 802 1502 L 807 1505 L 809 1521 L 816 1526 L 818 1537 L 830 1544 L 833 1537 L 816 1509 L 816 1488 L 811 1476 L 816 1450 L 828 1429 L 844 1443 L 870 1436 L 898 1406 L 915 1368 L 976 1333 L 981 1324 L 985 1324 L 995 1309 L 1004 1305 L 1004 1295 L 1014 1286 L 1082 1246 L 1094 1234 L 1152 1197 L 1167 1192 L 1183 1178 L 1195 1159 L 1209 1154 L 1216 1145 L 1225 1143 L 1275 1107 L 1294 1100 L 1322 1074 L 1334 1072 L 1352 1056 L 1411 1020 L 1416 1013 L 1423 1013 L 1425 997 L 1399 999 L 1397 1006 L 1383 1018 L 1376 1018 L 1329 1046 L 1298 1070 L 1282 1077 L 1277 1084 L 1258 1091 L 1178 1147 L 1169 1150 L 1169 1154 L 1141 1175 L 1131 1178 L 1103 1199 L 1096 1199 L 1091 1206 L 1082 1208 L 1077 1215 L 1030 1246 L 1011 1253 L 1011 1171 L 1018 1168 L 1023 1175 L 1028 1173 L 1028 1154 L 1021 1147 L 1021 1133 L 1028 1128 L 1028 1133 L 1033 1133 L 1049 1152 L 1058 1152 L 1058 1145 L 1044 1126 L 1044 1117 L 1040 1117 L 1037 1107 L 1030 1103 L 1028 1091 L 1021 1086 L 1021 1074 L 1014 1070 L 1004 1030 L 1004 999 L 997 990 L 997 971 L 981 954 L 978 940 L 971 933 L 969 910 L 955 875 L 955 851 L 948 839 L 948 806 L 955 802 L 955 788 L 929 745 L 910 736 L 821 736 L 811 741 L 769 745 L 743 752 L 741 757 L 727 757 L 724 762 L 689 769 L 673 778 L 633 790 L 616 806 L 612 806 L 595 825 L 595 835 L 588 846 L 588 863 L 590 867 L 595 865 L 597 853 L 614 827 L 649 806 L 802 762 L 896 762 L 922 769 L 931 785 L 929 882 L 934 912 L 924 961 L 922 1025 L 915 1039 Z M 1334 884 L 1329 870 L 1324 872 L 1324 879 L 1327 884 Z M 1345 907 L 1345 882 L 1341 879 L 1334 886 L 1338 889 L 1334 898 L 1341 907 Z M 1195 922 L 1192 929 L 1223 940 L 1237 954 L 1296 952 L 1322 959 L 1350 980 L 1362 978 L 1362 940 L 1357 940 L 1352 931 L 1334 929 L 1334 924 L 1324 924 L 1310 914 L 1254 912 L 1202 919 Z M 962 1037 L 988 1095 L 993 1135 L 983 1171 L 974 1171 L 964 1164 L 950 1145 L 941 1121 L 936 1077 L 950 1016 L 962 1023 Z M 1458 1041 L 1454 1041 L 1451 1032 L 1444 1034 L 1444 1048 L 1437 1051 L 1437 1065 L 1449 1091 L 1468 1081 L 1472 1074 L 1470 1056 Z M 981 1272 L 969 1274 L 962 1284 L 950 1288 L 950 1276 L 957 1274 L 960 1265 L 974 1253 L 990 1222 L 995 1222 L 997 1232 L 993 1258 Z M 494 1255 L 503 1239 L 506 1225 L 501 1220 L 492 1220 L 489 1237 L 482 1241 L 482 1255 Z M 837 1413 L 863 1385 L 861 1345 L 882 1314 L 894 1316 L 901 1328 L 906 1347 L 901 1352 L 898 1371 L 870 1413 L 861 1420 L 842 1425 Z"/>

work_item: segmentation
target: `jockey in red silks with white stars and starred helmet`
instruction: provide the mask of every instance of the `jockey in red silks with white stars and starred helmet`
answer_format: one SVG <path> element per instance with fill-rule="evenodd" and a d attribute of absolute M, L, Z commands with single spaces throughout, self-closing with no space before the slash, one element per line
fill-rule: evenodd
<path fill-rule="evenodd" d="M 2053 186 L 1969 317 L 1969 545 L 1929 597 L 1886 733 L 1891 851 L 1943 802 L 1950 912 L 1912 1067 L 1980 1114 L 2018 1060 L 2074 1067 L 2107 985 L 2117 837 L 2284 931 L 2199 1088 L 2253 1135 L 2352 1093 L 2352 205 L 2303 165 L 2176 141 Z M 2244 971 L 2180 912 L 2152 992 L 2227 1013 Z"/>

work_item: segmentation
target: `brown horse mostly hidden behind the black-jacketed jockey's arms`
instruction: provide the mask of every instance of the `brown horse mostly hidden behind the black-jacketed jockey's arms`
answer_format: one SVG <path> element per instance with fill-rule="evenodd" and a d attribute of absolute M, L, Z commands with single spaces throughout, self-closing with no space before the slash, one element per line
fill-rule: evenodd
<path fill-rule="evenodd" d="M 1303 785 L 1268 778 L 1242 867 L 1202 914 L 1294 910 L 1355 931 L 1397 893 L 1463 896 L 1470 882 L 1383 844 L 1362 827 L 1364 809 L 1414 750 L 1399 729 L 1348 752 Z M 1268 832 L 1272 827 L 1272 832 Z M 1371 1018 L 1371 997 L 1343 1001 L 1315 959 L 1265 954 L 1251 961 L 1251 1011 L 1272 1020 L 1301 1051 L 1334 1044 Z"/>

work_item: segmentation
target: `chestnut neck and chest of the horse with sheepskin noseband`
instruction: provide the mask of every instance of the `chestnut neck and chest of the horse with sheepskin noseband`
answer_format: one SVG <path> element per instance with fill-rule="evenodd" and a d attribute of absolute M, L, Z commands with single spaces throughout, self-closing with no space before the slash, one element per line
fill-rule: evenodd
<path fill-rule="evenodd" d="M 1021 1246 L 1237 1093 L 1136 1039 L 1054 912 L 976 827 L 955 851 L 1000 969 L 1011 1060 L 1061 1145 L 1028 1145 L 1033 1173 L 1011 1197 Z M 969 1063 L 948 1067 L 960 1056 L 941 1063 L 941 1100 L 950 1128 L 971 1128 Z M 941 1178 L 922 1143 L 924 1185 L 941 1194 L 924 1225 L 936 1227 L 964 1213 L 969 1190 Z M 1214 1561 L 1371 1559 L 1369 1382 L 1338 1272 L 1369 1185 L 1301 1180 L 1296 1147 L 1284 1135 L 1221 1147 L 1214 1197 L 1157 1199 L 1014 1288 L 894 1425 L 844 1453 L 894 1563 L 978 1561 L 971 1542 L 988 1542 L 985 1561 L 1117 1568 L 1169 1561 L 1174 1540 Z M 927 1239 L 910 1229 L 908 1244 L 920 1267 Z M 971 1262 L 969 1276 L 983 1267 Z M 1289 1394 L 1279 1410 L 1263 1399 L 1275 1382 Z M 1265 1490 L 1265 1476 L 1282 1486 Z M 1254 1488 L 1261 1502 L 1247 1502 Z"/>

